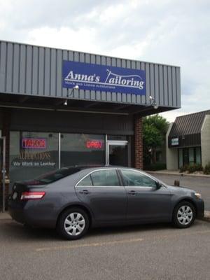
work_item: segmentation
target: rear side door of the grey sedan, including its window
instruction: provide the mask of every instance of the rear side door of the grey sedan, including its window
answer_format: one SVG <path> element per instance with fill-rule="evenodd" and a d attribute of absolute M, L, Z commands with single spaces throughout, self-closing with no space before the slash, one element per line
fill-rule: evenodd
<path fill-rule="evenodd" d="M 125 221 L 127 195 L 116 169 L 91 172 L 76 185 L 76 193 L 101 223 Z"/>

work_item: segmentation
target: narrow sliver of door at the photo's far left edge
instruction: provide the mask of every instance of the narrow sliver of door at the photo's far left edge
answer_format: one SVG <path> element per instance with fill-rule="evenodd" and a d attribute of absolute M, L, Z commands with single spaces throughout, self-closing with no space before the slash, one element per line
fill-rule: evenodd
<path fill-rule="evenodd" d="M 6 140 L 5 137 L 0 137 L 0 207 L 2 212 L 5 211 L 5 157 L 6 157 Z"/>

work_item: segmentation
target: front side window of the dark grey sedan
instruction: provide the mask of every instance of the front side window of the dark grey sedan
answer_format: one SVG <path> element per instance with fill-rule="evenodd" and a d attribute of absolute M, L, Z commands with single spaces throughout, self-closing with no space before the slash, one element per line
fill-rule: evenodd
<path fill-rule="evenodd" d="M 150 177 L 132 170 L 121 170 L 125 186 L 156 187 L 156 182 Z"/>

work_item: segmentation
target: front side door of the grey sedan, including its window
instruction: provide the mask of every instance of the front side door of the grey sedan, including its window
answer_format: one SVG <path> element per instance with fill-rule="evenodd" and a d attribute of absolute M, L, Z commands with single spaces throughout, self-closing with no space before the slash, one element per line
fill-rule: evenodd
<path fill-rule="evenodd" d="M 172 195 L 165 186 L 157 188 L 150 176 L 134 169 L 120 169 L 127 193 L 127 220 L 169 221 Z"/>

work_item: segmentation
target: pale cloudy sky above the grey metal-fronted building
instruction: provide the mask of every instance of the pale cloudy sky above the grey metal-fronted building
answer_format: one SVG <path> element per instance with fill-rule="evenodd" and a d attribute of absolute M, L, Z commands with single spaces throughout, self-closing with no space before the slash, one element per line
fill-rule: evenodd
<path fill-rule="evenodd" d="M 0 39 L 181 66 L 181 109 L 210 109 L 210 0 L 0 0 Z"/>

